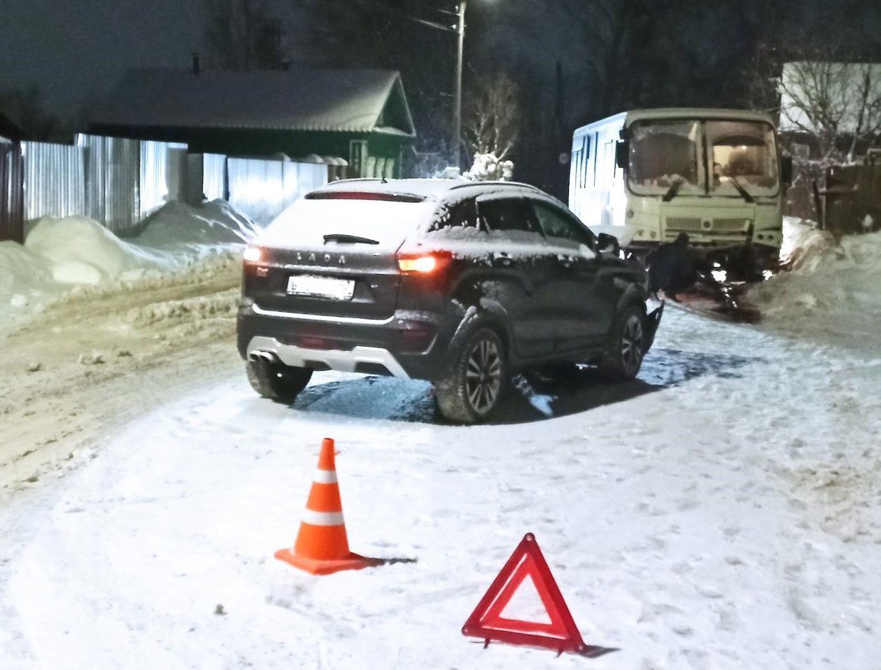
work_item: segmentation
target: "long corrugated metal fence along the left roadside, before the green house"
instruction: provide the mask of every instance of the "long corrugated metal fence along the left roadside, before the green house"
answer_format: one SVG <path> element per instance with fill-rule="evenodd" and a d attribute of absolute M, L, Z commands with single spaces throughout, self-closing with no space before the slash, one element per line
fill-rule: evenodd
<path fill-rule="evenodd" d="M 77 135 L 73 146 L 0 144 L 0 239 L 22 220 L 81 215 L 121 235 L 166 202 L 229 200 L 261 224 L 328 181 L 328 166 L 188 154 L 186 144 Z"/>

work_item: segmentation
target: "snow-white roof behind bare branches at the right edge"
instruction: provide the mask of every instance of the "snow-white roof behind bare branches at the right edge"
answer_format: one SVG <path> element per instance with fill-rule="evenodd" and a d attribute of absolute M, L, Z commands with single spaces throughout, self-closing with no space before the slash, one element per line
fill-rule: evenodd
<path fill-rule="evenodd" d="M 829 63 L 793 61 L 783 63 L 780 81 L 780 127 L 782 130 L 816 131 L 803 107 L 817 107 L 821 102 L 839 121 L 840 132 L 853 132 L 859 117 L 865 77 L 874 87 L 867 100 L 878 104 L 881 63 Z M 865 121 L 865 120 L 863 120 Z"/>

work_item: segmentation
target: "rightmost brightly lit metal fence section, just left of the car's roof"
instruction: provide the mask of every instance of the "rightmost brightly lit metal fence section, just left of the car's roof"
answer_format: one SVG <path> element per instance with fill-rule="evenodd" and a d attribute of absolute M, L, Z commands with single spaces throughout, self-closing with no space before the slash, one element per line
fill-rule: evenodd
<path fill-rule="evenodd" d="M 313 188 L 327 183 L 328 166 L 285 160 L 227 158 L 229 203 L 266 225 Z"/>

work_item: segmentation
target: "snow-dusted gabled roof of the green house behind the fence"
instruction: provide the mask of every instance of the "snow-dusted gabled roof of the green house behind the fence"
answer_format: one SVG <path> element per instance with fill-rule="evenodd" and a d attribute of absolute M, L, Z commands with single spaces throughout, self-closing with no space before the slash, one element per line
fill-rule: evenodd
<path fill-rule="evenodd" d="M 383 111 L 403 107 L 395 127 Z M 392 132 L 415 136 L 393 70 L 129 70 L 93 126 Z"/>

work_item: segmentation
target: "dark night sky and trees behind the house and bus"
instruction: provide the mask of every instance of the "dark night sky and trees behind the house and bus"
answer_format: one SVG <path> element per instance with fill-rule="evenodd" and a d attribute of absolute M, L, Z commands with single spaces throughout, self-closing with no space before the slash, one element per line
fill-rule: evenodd
<path fill-rule="evenodd" d="M 224 63 L 211 17 L 242 1 L 4 0 L 0 108 L 25 108 L 34 138 L 70 141 L 126 68 L 186 68 L 194 51 L 203 67 Z M 452 26 L 455 0 L 250 0 L 248 11 L 278 19 L 292 67 L 401 70 L 418 149 L 448 151 L 455 32 L 414 19 Z M 469 0 L 467 22 L 466 103 L 513 79 L 515 177 L 559 195 L 559 153 L 585 122 L 633 107 L 774 111 L 785 60 L 881 58 L 877 0 Z"/>

